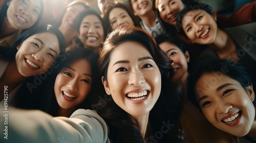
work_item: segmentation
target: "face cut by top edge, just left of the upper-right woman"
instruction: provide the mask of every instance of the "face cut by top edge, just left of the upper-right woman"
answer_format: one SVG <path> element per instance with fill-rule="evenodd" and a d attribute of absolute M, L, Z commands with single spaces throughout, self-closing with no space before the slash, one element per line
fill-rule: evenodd
<path fill-rule="evenodd" d="M 160 17 L 169 25 L 176 25 L 177 14 L 184 8 L 181 0 L 159 0 Z"/>

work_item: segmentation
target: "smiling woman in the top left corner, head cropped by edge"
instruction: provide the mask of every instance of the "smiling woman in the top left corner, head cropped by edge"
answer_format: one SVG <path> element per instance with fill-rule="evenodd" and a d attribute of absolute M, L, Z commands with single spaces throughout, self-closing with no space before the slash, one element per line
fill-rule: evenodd
<path fill-rule="evenodd" d="M 43 0 L 5 0 L 0 9 L 0 45 L 13 44 L 21 30 L 37 26 L 44 9 Z"/>

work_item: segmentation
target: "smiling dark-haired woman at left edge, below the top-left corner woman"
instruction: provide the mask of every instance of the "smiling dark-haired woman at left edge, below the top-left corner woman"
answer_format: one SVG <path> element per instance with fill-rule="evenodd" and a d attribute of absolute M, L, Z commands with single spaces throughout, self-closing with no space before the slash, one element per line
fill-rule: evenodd
<path fill-rule="evenodd" d="M 57 28 L 34 27 L 21 34 L 10 48 L 2 47 L 0 51 L 0 85 L 8 86 L 11 101 L 25 80 L 45 73 L 59 54 L 65 52 L 65 39 Z"/>

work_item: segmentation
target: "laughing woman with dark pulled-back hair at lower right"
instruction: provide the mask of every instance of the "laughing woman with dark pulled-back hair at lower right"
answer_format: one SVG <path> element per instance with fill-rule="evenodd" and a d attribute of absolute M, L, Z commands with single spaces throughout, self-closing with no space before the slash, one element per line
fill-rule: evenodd
<path fill-rule="evenodd" d="M 188 78 L 189 99 L 218 129 L 256 141 L 254 92 L 247 69 L 225 60 L 205 61 Z M 254 138 L 254 139 L 253 139 Z M 242 141 L 244 142 L 244 141 Z"/>

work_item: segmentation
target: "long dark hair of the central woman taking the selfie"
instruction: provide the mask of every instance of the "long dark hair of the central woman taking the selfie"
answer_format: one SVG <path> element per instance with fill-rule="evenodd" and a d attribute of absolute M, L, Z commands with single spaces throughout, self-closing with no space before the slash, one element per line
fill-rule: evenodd
<path fill-rule="evenodd" d="M 182 108 L 182 92 L 178 86 L 170 82 L 173 77 L 173 68 L 170 66 L 172 60 L 160 49 L 151 34 L 138 27 L 116 29 L 111 32 L 103 44 L 98 60 L 100 76 L 103 76 L 103 80 L 108 80 L 106 77 L 111 52 L 125 41 L 136 41 L 147 47 L 160 70 L 162 87 L 159 99 L 150 111 L 145 139 L 141 136 L 138 125 L 131 121 L 129 114 L 121 109 L 111 96 L 108 96 L 110 98 L 101 97 L 95 110 L 108 123 L 110 138 L 113 142 L 150 142 L 152 141 L 150 136 L 156 136 L 160 128 L 168 123 L 173 127 L 168 128 L 167 132 L 161 133 L 162 137 L 158 141 L 181 142 L 179 118 Z"/>

